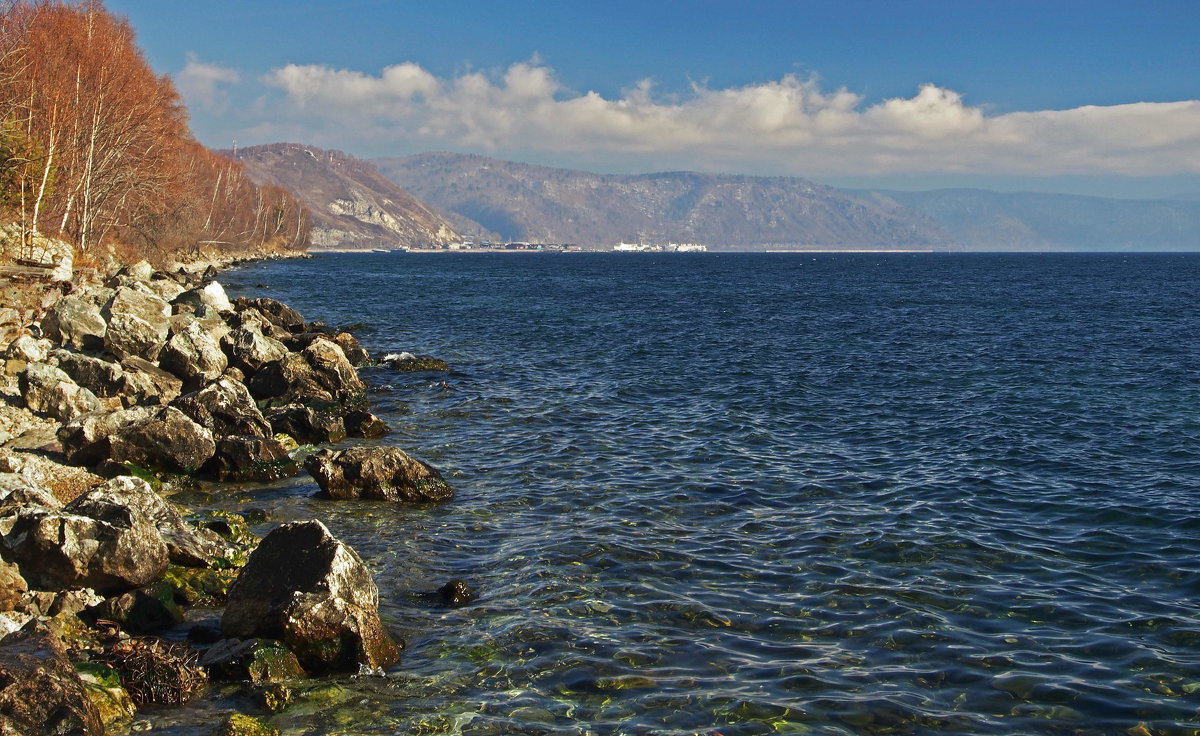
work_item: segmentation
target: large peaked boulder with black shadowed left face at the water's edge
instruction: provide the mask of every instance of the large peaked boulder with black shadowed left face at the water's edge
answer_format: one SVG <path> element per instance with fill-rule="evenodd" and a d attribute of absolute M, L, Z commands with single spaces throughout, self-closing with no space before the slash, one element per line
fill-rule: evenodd
<path fill-rule="evenodd" d="M 229 591 L 221 628 L 277 639 L 313 672 L 400 658 L 379 620 L 371 572 L 319 521 L 286 523 L 263 539 Z"/>

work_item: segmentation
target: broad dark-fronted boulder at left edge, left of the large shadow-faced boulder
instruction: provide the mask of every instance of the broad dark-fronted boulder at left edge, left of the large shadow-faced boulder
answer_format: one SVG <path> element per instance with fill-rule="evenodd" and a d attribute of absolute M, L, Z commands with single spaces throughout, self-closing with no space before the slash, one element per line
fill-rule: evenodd
<path fill-rule="evenodd" d="M 25 580 L 44 591 L 118 594 L 154 582 L 167 569 L 167 544 L 143 519 L 101 521 L 65 509 L 25 509 L 4 545 Z"/>

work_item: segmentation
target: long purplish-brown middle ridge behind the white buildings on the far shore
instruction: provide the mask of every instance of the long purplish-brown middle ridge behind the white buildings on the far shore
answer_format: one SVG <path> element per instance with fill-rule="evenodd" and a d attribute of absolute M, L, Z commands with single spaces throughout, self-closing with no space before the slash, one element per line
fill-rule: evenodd
<path fill-rule="evenodd" d="M 574 243 L 701 243 L 710 250 L 943 250 L 926 215 L 887 197 L 804 179 L 724 174 L 592 174 L 484 156 L 377 158 L 379 172 L 454 213 L 468 235 Z M 476 232 L 478 231 L 478 232 Z"/>

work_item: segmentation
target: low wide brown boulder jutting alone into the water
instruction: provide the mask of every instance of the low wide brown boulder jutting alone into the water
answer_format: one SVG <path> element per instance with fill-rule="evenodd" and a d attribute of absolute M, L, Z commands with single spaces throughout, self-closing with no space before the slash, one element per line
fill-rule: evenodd
<path fill-rule="evenodd" d="M 427 502 L 454 496 L 442 473 L 395 447 L 318 450 L 304 467 L 329 498 Z"/>

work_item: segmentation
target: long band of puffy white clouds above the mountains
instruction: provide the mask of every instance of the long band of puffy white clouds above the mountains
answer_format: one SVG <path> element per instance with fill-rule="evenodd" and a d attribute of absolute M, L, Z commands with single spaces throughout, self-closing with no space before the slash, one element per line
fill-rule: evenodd
<path fill-rule="evenodd" d="M 221 71 L 194 64 L 188 78 L 202 100 L 229 80 Z M 288 65 L 263 82 L 296 120 L 319 124 L 326 142 L 336 131 L 350 149 L 365 140 L 565 158 L 654 156 L 680 168 L 799 175 L 1200 173 L 1196 100 L 989 115 L 934 84 L 866 104 L 793 74 L 728 89 L 695 84 L 678 96 L 641 82 L 606 98 L 565 89 L 538 62 L 446 79 L 410 62 L 379 74 Z"/>

